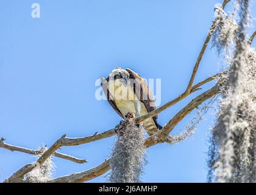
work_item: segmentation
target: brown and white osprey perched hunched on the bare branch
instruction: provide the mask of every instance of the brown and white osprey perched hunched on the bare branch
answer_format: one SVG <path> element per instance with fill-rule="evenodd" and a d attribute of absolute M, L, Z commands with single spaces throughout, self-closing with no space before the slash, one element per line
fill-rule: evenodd
<path fill-rule="evenodd" d="M 155 110 L 154 97 L 145 80 L 131 69 L 115 68 L 107 79 L 101 78 L 101 86 L 107 101 L 122 118 L 127 113 L 146 115 Z M 162 127 L 157 123 L 157 115 L 143 121 L 149 135 Z"/>

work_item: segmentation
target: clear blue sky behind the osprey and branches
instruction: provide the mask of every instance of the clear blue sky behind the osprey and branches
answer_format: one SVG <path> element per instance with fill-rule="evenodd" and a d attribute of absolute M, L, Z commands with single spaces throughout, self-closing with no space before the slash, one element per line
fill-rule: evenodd
<path fill-rule="evenodd" d="M 34 2 L 41 6 L 39 19 L 30 16 Z M 121 118 L 107 101 L 94 98 L 94 82 L 116 66 L 162 79 L 162 104 L 176 98 L 186 88 L 218 2 L 2 0 L 0 137 L 7 138 L 6 143 L 37 149 L 42 144 L 51 146 L 64 133 L 83 137 L 112 129 Z M 253 7 L 256 16 L 255 3 Z M 219 60 L 208 48 L 196 82 L 218 71 Z M 200 92 L 161 113 L 158 122 L 168 122 Z M 193 116 L 194 112 L 183 119 L 172 134 Z M 143 182 L 205 182 L 213 119 L 210 110 L 192 138 L 175 146 L 149 148 Z M 115 137 L 63 147 L 61 152 L 86 158 L 88 163 L 54 158 L 54 176 L 93 168 L 108 158 L 113 141 Z M 34 161 L 32 155 L 4 149 L 0 159 L 0 181 Z"/>

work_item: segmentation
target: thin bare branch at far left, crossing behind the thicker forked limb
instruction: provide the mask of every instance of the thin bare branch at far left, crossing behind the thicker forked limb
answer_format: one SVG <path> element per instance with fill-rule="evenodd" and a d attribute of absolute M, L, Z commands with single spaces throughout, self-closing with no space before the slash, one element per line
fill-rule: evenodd
<path fill-rule="evenodd" d="M 4 143 L 4 138 L 1 138 L 0 139 L 0 147 L 4 148 L 4 149 L 7 149 L 9 151 L 18 151 L 18 152 L 23 152 L 23 153 L 26 153 L 26 154 L 32 154 L 32 155 L 39 155 L 41 154 L 41 151 L 37 151 L 37 150 L 32 150 L 32 149 L 27 149 L 25 147 L 20 147 L 20 146 L 13 146 L 11 144 L 7 144 L 7 143 Z M 83 163 L 87 163 L 88 161 L 85 160 L 85 159 L 81 159 L 81 158 L 76 158 L 76 157 L 73 157 L 71 155 L 67 155 L 67 154 L 62 154 L 60 152 L 54 152 L 53 154 L 55 157 L 59 157 L 59 158 L 63 158 L 65 160 L 70 160 L 70 161 L 73 161 L 75 163 L 80 163 L 80 164 L 83 164 Z"/>

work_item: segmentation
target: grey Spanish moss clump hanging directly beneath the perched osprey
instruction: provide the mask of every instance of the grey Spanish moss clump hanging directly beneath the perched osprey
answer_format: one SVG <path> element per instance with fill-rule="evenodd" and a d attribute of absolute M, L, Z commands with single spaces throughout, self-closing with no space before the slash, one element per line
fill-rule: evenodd
<path fill-rule="evenodd" d="M 126 121 L 118 127 L 117 132 L 108 180 L 112 183 L 141 182 L 143 168 L 146 164 L 144 129 L 135 123 L 135 115 L 128 113 Z"/>

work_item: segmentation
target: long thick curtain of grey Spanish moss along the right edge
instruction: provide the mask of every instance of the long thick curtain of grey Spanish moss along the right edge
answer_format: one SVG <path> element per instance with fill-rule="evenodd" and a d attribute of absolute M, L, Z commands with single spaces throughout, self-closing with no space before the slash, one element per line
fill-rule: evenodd
<path fill-rule="evenodd" d="M 222 87 L 219 113 L 210 139 L 208 182 L 213 182 L 213 177 L 216 182 L 255 182 L 256 53 L 246 40 L 249 0 L 236 0 L 232 16 L 238 27 L 235 37 L 232 34 L 227 39 L 233 40 L 235 46 L 222 44 L 221 38 L 215 40 L 219 48 L 232 54 L 232 61 L 227 67 L 229 75 Z"/>

